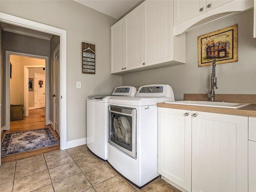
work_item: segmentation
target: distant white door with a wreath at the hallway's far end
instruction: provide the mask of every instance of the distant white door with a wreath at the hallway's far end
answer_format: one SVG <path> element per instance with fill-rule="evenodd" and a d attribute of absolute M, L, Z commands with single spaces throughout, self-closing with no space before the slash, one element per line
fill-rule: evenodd
<path fill-rule="evenodd" d="M 35 109 L 45 107 L 45 75 L 34 74 L 34 102 Z"/>

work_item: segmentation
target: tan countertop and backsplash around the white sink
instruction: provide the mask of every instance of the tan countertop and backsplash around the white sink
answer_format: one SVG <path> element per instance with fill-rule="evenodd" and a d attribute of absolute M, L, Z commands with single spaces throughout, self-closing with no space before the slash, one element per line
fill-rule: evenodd
<path fill-rule="evenodd" d="M 184 100 L 207 100 L 206 94 L 184 94 Z M 202 111 L 220 114 L 240 115 L 240 116 L 251 116 L 256 117 L 256 95 L 238 95 L 238 94 L 218 94 L 218 100 L 225 102 L 244 102 L 251 103 L 248 106 L 244 106 L 238 109 L 230 108 L 218 108 L 218 107 L 204 107 L 204 106 L 191 106 L 191 105 L 180 105 L 180 104 L 167 104 L 157 103 L 158 107 L 182 109 L 190 111 Z"/>

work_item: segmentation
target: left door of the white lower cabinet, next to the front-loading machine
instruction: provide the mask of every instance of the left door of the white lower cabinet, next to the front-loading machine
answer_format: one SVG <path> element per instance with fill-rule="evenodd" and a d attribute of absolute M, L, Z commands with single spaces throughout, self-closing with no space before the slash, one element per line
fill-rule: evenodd
<path fill-rule="evenodd" d="M 158 108 L 158 173 L 189 192 L 191 121 L 191 111 Z"/>

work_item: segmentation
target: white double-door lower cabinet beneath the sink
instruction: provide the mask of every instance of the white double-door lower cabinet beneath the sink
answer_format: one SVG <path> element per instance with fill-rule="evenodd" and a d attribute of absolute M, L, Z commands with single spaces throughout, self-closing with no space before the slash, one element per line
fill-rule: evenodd
<path fill-rule="evenodd" d="M 158 108 L 158 121 L 159 174 L 184 191 L 248 192 L 248 117 Z"/>

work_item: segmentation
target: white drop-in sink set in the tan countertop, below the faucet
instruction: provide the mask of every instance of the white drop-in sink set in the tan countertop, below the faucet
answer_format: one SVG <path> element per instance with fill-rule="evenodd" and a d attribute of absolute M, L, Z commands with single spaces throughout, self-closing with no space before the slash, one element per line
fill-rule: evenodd
<path fill-rule="evenodd" d="M 215 101 L 174 101 L 174 102 L 165 102 L 169 104 L 178 104 L 178 105 L 194 105 L 194 106 L 205 106 L 205 107 L 220 107 L 220 108 L 231 108 L 238 109 L 250 105 L 250 103 L 234 103 L 234 102 L 215 102 Z"/>

